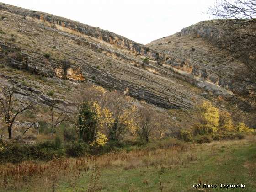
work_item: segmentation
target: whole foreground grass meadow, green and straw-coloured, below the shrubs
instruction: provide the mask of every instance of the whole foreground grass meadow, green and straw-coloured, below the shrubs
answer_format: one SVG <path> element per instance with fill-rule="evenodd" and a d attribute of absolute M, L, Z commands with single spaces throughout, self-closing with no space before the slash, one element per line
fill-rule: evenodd
<path fill-rule="evenodd" d="M 40 176 L 10 177 L 9 184 L 0 191 L 256 191 L 255 137 L 178 146 L 173 142 L 165 140 L 145 149 L 56 161 Z M 198 183 L 217 184 L 218 188 L 193 188 Z M 221 183 L 244 184 L 245 188 L 220 188 Z"/>

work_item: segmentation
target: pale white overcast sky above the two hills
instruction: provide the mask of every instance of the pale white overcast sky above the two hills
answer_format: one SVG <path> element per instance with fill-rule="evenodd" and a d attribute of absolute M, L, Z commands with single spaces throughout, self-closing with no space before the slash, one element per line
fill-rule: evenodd
<path fill-rule="evenodd" d="M 216 0 L 0 0 L 100 27 L 147 44 L 200 21 Z"/>

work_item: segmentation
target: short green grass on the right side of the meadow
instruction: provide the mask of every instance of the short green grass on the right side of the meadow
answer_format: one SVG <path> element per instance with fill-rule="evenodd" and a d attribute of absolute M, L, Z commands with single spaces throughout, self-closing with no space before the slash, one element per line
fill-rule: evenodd
<path fill-rule="evenodd" d="M 232 191 L 256 190 L 256 144 L 245 141 L 224 141 L 213 144 L 203 144 L 195 147 L 193 151 L 197 157 L 184 165 L 169 168 L 137 167 L 124 170 L 111 168 L 101 170 L 101 185 L 103 191 L 160 191 L 159 177 L 163 191 L 197 191 L 192 188 L 193 183 L 208 184 L 245 184 L 244 189 L 231 189 Z M 80 179 L 80 186 L 87 186 L 85 178 Z M 203 189 L 200 191 L 227 191 L 224 188 Z M 229 189 L 230 190 L 230 189 Z M 71 192 L 73 189 L 68 183 L 62 182 L 59 191 Z"/>

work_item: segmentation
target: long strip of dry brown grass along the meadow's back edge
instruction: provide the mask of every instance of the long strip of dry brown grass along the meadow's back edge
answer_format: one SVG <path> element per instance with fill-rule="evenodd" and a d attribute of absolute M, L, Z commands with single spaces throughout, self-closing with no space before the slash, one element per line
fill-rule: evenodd
<path fill-rule="evenodd" d="M 6 164 L 0 166 L 0 188 L 5 190 L 27 191 L 56 191 L 60 181 L 69 184 L 73 191 L 81 190 L 80 181 L 86 180 L 87 191 L 100 191 L 101 172 L 111 169 L 131 170 L 137 168 L 155 168 L 156 170 L 173 170 L 187 167 L 190 163 L 203 162 L 207 158 L 215 157 L 223 149 L 249 146 L 255 142 L 255 136 L 242 140 L 216 141 L 210 144 L 179 144 L 166 145 L 156 149 L 137 149 L 131 152 L 117 152 L 105 155 L 92 155 L 82 158 L 54 159 L 49 162 L 23 162 L 21 164 Z M 201 155 L 200 155 L 201 154 Z M 217 158 L 218 156 L 216 156 Z M 223 159 L 225 158 L 225 159 Z M 216 161 L 221 165 L 229 158 L 218 157 Z M 255 165 L 250 164 L 250 167 Z M 90 171 L 88 171 L 90 170 Z M 251 173 L 253 174 L 253 173 Z M 142 179 L 145 185 L 149 179 Z M 134 191 L 130 186 L 129 191 Z"/>

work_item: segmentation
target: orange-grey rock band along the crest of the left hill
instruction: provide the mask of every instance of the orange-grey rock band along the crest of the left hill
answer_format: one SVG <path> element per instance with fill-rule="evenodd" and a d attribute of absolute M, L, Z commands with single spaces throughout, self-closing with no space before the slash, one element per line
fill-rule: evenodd
<path fill-rule="evenodd" d="M 180 73 L 181 75 L 186 75 L 186 77 L 191 78 L 193 81 L 198 81 L 195 84 L 201 83 L 201 81 L 205 81 L 205 84 L 208 82 L 215 84 L 216 86 L 208 86 L 208 89 L 212 90 L 217 95 L 229 95 L 230 91 L 225 91 L 226 88 L 230 89 L 230 82 L 226 79 L 222 79 L 219 74 L 214 74 L 214 70 L 206 70 L 201 67 L 201 64 L 198 62 L 191 62 L 190 59 L 184 58 L 184 55 L 176 57 L 173 55 L 172 50 L 166 49 L 157 49 L 152 47 L 153 49 L 146 47 L 142 44 L 133 42 L 125 37 L 119 36 L 112 32 L 99 29 L 97 27 L 91 27 L 85 24 L 81 24 L 79 22 L 71 21 L 65 18 L 61 18 L 58 16 L 49 15 L 42 12 L 31 11 L 26 9 L 21 9 L 17 7 L 13 7 L 11 5 L 0 5 L 0 9 L 4 11 L 8 11 L 11 13 L 15 13 L 21 16 L 26 16 L 28 21 L 37 22 L 39 24 L 43 24 L 46 27 L 51 27 L 57 29 L 58 31 L 64 32 L 63 34 L 70 34 L 72 38 L 84 37 L 95 40 L 97 43 L 91 42 L 83 42 L 87 43 L 93 49 L 97 49 L 99 51 L 104 51 L 113 54 L 112 48 L 121 48 L 128 50 L 130 53 L 135 53 L 136 55 L 140 55 L 143 57 L 148 57 L 149 59 L 157 60 L 159 64 L 165 66 L 167 69 L 173 69 L 173 71 Z M 208 37 L 208 38 L 217 38 L 217 32 L 214 32 L 213 28 L 194 25 L 192 27 L 187 27 L 181 30 L 178 36 L 184 36 L 188 34 L 195 34 L 197 37 Z M 75 37 L 74 37 L 75 36 Z M 100 45 L 99 45 L 100 44 Z M 158 43 L 163 44 L 163 43 Z M 102 46 L 103 45 L 103 46 Z M 158 50 L 155 51 L 154 49 Z M 127 60 L 127 56 L 123 53 L 114 53 L 117 57 L 123 57 L 123 60 Z M 133 57 L 129 59 L 132 60 L 134 65 L 137 65 L 138 61 L 134 62 Z M 164 63 L 164 65 L 162 64 Z M 150 69 L 151 71 L 155 71 L 155 69 Z M 199 79 L 198 79 L 199 78 Z M 71 78 L 71 79 L 79 79 L 79 78 Z M 83 79 L 83 78 L 82 78 Z M 221 80 L 220 80 L 221 79 Z M 220 82 L 220 83 L 219 83 Z M 229 87 L 227 86 L 229 85 Z M 219 87 L 221 86 L 221 87 Z M 215 89 L 215 87 L 217 89 Z M 223 90 L 223 91 L 219 91 Z"/>

